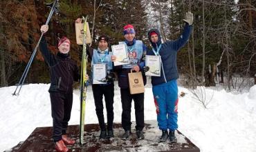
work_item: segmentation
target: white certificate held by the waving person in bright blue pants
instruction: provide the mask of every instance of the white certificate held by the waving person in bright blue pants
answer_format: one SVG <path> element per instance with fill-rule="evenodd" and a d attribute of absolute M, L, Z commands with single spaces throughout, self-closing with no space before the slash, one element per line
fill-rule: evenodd
<path fill-rule="evenodd" d="M 146 66 L 149 67 L 146 76 L 161 76 L 161 56 L 146 55 Z"/>

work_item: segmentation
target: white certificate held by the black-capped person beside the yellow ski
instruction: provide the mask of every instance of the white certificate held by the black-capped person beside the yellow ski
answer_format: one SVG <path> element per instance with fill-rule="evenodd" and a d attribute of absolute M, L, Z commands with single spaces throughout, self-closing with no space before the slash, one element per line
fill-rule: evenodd
<path fill-rule="evenodd" d="M 106 84 L 107 65 L 93 64 L 93 84 Z"/>

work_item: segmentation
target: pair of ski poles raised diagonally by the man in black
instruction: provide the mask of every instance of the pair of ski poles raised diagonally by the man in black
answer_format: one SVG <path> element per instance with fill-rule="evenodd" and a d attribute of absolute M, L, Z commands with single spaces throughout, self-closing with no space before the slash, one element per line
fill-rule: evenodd
<path fill-rule="evenodd" d="M 59 5 L 58 5 L 58 1 L 59 1 L 59 0 L 55 0 L 54 2 L 48 4 L 48 7 L 51 8 L 51 11 L 50 11 L 50 13 L 49 13 L 49 15 L 48 15 L 48 19 L 47 19 L 45 25 L 48 25 L 48 23 L 49 23 L 49 21 L 51 20 L 51 17 L 53 16 L 53 13 L 54 13 L 54 12 L 58 13 L 58 9 L 57 9 L 57 7 L 59 6 Z M 21 76 L 21 79 L 19 80 L 19 83 L 18 83 L 18 85 L 17 85 L 17 87 L 16 87 L 16 89 L 15 89 L 15 92 L 12 94 L 13 96 L 19 95 L 19 92 L 21 91 L 21 87 L 22 87 L 22 85 L 24 85 L 24 81 L 25 81 L 26 76 L 27 76 L 27 74 L 28 74 L 29 68 L 30 68 L 30 66 L 31 66 L 31 64 L 32 64 L 32 62 L 33 62 L 33 59 L 35 58 L 35 54 L 36 54 L 36 52 L 37 52 L 37 47 L 39 46 L 39 43 L 40 43 L 40 41 L 41 41 L 43 35 L 44 35 L 44 33 L 42 32 L 42 34 L 41 34 L 41 36 L 40 36 L 40 38 L 39 38 L 39 41 L 37 42 L 37 45 L 36 45 L 36 47 L 35 47 L 35 49 L 34 49 L 34 51 L 33 51 L 33 54 L 31 55 L 30 60 L 28 61 L 28 65 L 26 66 L 26 68 L 25 68 L 25 70 L 24 70 L 24 72 L 23 72 L 23 74 L 22 74 L 22 76 Z M 21 82 L 22 82 L 22 83 L 21 83 Z M 18 91 L 18 93 L 16 94 L 16 91 L 17 91 L 18 87 L 19 87 L 19 91 Z"/>

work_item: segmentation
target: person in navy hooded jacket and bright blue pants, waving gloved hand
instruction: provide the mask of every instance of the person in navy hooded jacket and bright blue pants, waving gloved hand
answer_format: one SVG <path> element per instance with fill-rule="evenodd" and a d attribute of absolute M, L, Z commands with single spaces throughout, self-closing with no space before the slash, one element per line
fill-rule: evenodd
<path fill-rule="evenodd" d="M 193 14 L 187 12 L 185 15 L 185 28 L 183 34 L 175 41 L 161 43 L 161 35 L 156 29 L 149 30 L 148 37 L 152 43 L 152 50 L 147 55 L 161 56 L 161 76 L 152 76 L 152 90 L 156 105 L 158 127 L 163 134 L 160 141 L 168 138 L 167 129 L 170 130 L 171 142 L 176 142 L 175 130 L 178 128 L 178 86 L 176 79 L 179 78 L 176 56 L 177 52 L 188 42 L 192 31 Z M 147 72 L 149 67 L 143 67 Z"/>

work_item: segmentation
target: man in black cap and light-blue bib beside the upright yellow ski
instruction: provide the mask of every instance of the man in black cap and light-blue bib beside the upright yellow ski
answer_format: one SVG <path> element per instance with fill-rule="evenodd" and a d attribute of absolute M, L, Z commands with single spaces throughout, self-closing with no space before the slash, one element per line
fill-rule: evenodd
<path fill-rule="evenodd" d="M 113 63 L 111 61 L 112 52 L 109 52 L 109 37 L 102 35 L 98 38 L 98 49 L 88 49 L 91 65 L 106 64 L 107 65 L 107 84 L 93 84 L 93 98 L 95 102 L 95 111 L 100 124 L 100 139 L 113 138 Z M 93 78 L 92 78 L 93 79 Z M 103 96 L 107 109 L 107 127 L 104 122 L 103 113 Z"/>

